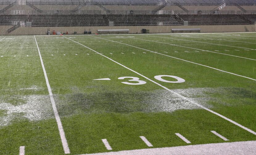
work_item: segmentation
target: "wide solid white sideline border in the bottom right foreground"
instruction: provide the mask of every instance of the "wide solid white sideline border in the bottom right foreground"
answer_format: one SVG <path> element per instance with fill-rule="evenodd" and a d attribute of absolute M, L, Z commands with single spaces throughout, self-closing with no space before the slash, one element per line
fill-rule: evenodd
<path fill-rule="evenodd" d="M 118 152 L 104 152 L 93 154 L 81 154 L 81 155 L 231 155 L 231 154 L 246 154 L 255 155 L 256 141 L 240 141 L 240 142 L 225 142 L 214 144 L 201 144 L 201 145 L 186 145 L 175 146 L 165 148 L 149 148 L 149 149 L 137 149 L 126 150 Z"/>

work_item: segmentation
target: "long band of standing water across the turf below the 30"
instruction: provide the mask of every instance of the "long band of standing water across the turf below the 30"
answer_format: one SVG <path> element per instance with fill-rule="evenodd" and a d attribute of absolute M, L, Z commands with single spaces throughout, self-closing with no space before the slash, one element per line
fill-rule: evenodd
<path fill-rule="evenodd" d="M 26 90 L 40 90 L 40 88 L 26 88 Z M 166 90 L 152 92 L 128 91 L 85 94 L 74 87 L 71 94 L 54 94 L 56 106 L 61 117 L 68 117 L 81 113 L 104 112 L 174 112 L 179 109 L 197 109 L 196 105 L 181 99 Z M 193 100 L 206 108 L 213 108 L 212 104 L 224 104 L 228 99 L 239 99 L 240 103 L 251 104 L 256 100 L 256 94 L 243 88 L 188 88 L 174 89 L 174 92 Z M 232 103 L 235 105 L 236 103 Z M 0 126 L 6 126 L 13 120 L 27 119 L 38 121 L 54 118 L 49 95 L 13 95 L 0 96 Z"/>

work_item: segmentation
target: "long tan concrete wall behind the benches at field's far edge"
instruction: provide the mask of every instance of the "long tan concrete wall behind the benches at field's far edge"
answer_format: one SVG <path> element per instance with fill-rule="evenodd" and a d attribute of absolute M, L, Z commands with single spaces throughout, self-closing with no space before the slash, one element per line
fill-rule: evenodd
<path fill-rule="evenodd" d="M 11 26 L 0 26 L 0 35 L 6 35 Z M 48 27 L 19 27 L 8 35 L 46 35 Z M 150 33 L 170 33 L 172 28 L 200 28 L 201 32 L 255 32 L 255 25 L 204 25 L 204 26 L 123 26 L 123 27 L 49 27 L 52 31 L 68 31 L 69 34 L 83 34 L 84 30 L 97 33 L 98 29 L 130 29 L 130 33 L 141 33 L 148 29 Z"/>

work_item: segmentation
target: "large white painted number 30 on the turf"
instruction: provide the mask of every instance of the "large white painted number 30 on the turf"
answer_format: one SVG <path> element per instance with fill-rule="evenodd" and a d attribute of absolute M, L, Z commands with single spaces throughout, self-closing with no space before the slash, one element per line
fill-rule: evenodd
<path fill-rule="evenodd" d="M 177 81 L 168 81 L 168 80 L 164 80 L 162 79 L 162 77 L 171 77 L 171 78 L 174 78 L 176 79 Z M 123 84 L 130 84 L 130 85 L 141 85 L 141 84 L 146 84 L 147 82 L 146 81 L 142 81 L 142 80 L 139 80 L 139 78 L 137 77 L 133 77 L 133 76 L 124 76 L 124 77 L 120 77 L 118 78 L 119 80 L 124 80 L 126 78 L 129 78 L 130 80 L 128 81 L 134 81 L 134 82 L 137 82 L 137 83 L 130 83 L 130 82 L 122 82 Z M 184 79 L 178 77 L 178 76 L 173 76 L 173 75 L 156 75 L 155 76 L 155 79 L 156 80 L 159 80 L 159 81 L 162 81 L 162 82 L 167 82 L 167 83 L 182 83 L 182 82 L 185 82 Z"/>

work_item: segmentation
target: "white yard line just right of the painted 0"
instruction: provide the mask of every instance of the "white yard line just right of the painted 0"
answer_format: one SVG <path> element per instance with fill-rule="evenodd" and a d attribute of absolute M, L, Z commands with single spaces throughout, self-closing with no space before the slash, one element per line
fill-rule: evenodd
<path fill-rule="evenodd" d="M 95 37 L 95 36 L 91 36 L 91 37 Z M 95 37 L 95 38 L 99 38 L 99 37 Z M 99 39 L 104 39 L 104 38 L 99 38 Z M 109 39 L 104 39 L 104 40 L 109 40 Z M 120 42 L 113 41 L 113 40 L 109 40 L 109 41 L 112 41 L 112 42 L 115 42 L 115 43 L 120 43 Z M 168 57 L 171 57 L 171 58 L 174 58 L 174 59 L 178 59 L 178 60 L 186 61 L 186 62 L 189 62 L 189 63 L 194 63 L 194 62 L 192 62 L 192 61 L 188 61 L 188 60 L 184 60 L 184 59 L 176 58 L 176 57 L 173 57 L 173 56 L 170 56 L 170 55 L 165 55 L 165 54 L 162 54 L 162 53 L 158 53 L 158 52 L 150 51 L 150 50 L 147 50 L 147 49 L 144 49 L 144 48 L 140 48 L 140 47 L 136 47 L 136 46 L 132 46 L 132 45 L 129 45 L 129 44 L 126 44 L 126 43 L 121 43 L 121 44 L 124 44 L 124 45 L 127 45 L 127 46 L 131 46 L 131 47 L 135 47 L 135 48 L 138 48 L 138 49 L 142 49 L 142 50 L 145 50 L 145 51 L 149 51 L 149 52 L 152 52 L 152 53 L 156 53 L 156 54 L 160 54 L 160 55 L 168 56 Z M 253 79 L 253 78 L 250 78 L 250 77 L 246 77 L 246 76 L 243 76 L 243 75 L 238 75 L 238 74 L 231 73 L 231 72 L 228 72 L 228 71 L 223 71 L 223 70 L 221 70 L 221 69 L 217 69 L 217 68 L 214 68 L 214 67 L 210 67 L 210 66 L 202 65 L 202 64 L 200 64 L 200 63 L 194 63 L 194 64 L 197 64 L 197 65 L 200 65 L 200 66 L 204 66 L 204 67 L 208 67 L 208 68 L 212 68 L 212 69 L 215 69 L 215 70 L 218 70 L 218 71 L 222 71 L 222 72 L 225 72 L 225 73 L 229 73 L 229 74 L 237 75 L 237 76 L 240 76 L 240 77 L 244 77 L 244 78 L 247 78 L 247 79 L 250 79 L 250 80 L 254 80 L 254 81 L 256 81 L 256 79 Z"/>

